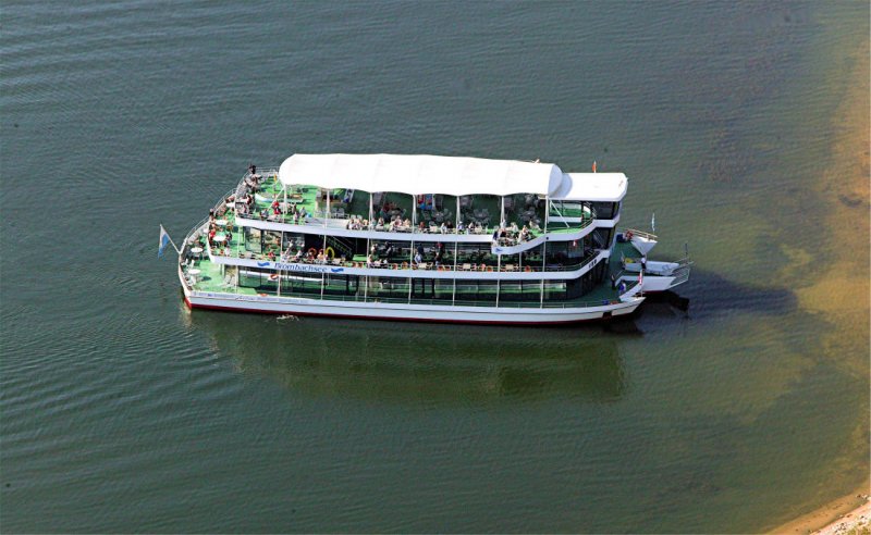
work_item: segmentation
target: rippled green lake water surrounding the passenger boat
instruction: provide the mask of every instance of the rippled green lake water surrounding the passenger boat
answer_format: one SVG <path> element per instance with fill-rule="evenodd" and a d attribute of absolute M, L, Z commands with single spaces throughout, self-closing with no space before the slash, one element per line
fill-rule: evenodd
<path fill-rule="evenodd" d="M 857 209 L 818 187 L 868 21 L 861 2 L 7 2 L 0 528 L 753 532 L 852 492 L 868 304 L 843 323 L 801 290 L 833 250 L 868 254 L 867 234 L 832 242 L 827 215 Z M 249 162 L 297 151 L 597 160 L 629 176 L 622 224 L 655 212 L 661 258 L 689 244 L 689 311 L 189 312 L 158 224 L 181 238 Z"/>

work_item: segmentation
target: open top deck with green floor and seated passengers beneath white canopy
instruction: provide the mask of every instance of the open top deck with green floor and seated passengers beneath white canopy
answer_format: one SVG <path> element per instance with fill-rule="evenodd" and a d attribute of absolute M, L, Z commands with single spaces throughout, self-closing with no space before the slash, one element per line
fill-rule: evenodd
<path fill-rule="evenodd" d="M 554 201 L 540 194 L 407 195 L 368 192 L 348 188 L 321 188 L 286 184 L 274 169 L 253 179 L 246 175 L 236 189 L 216 207 L 218 217 L 231 217 L 238 226 L 302 233 L 354 235 L 395 239 L 496 241 L 518 247 L 547 234 L 573 239 L 597 219 L 597 204 L 605 219 L 614 219 L 617 203 Z M 273 225 L 273 224 L 278 224 Z M 611 225 L 613 226 L 613 225 Z M 449 237 L 450 236 L 450 237 Z M 496 239 L 494 239 L 496 238 Z"/>

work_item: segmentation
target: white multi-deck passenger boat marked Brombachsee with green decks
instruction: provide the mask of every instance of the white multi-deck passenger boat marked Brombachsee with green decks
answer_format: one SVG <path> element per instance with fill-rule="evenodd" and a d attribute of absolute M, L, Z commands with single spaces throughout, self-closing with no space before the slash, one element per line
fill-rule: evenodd
<path fill-rule="evenodd" d="M 627 185 L 623 173 L 538 161 L 294 154 L 250 166 L 194 226 L 176 248 L 179 279 L 201 309 L 481 324 L 621 316 L 686 282 L 691 265 L 647 260 L 657 237 L 617 231 Z"/>

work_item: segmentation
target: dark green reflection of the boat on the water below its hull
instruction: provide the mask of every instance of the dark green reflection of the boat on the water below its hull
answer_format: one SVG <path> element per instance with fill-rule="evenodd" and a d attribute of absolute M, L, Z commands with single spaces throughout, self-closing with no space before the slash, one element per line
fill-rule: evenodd
<path fill-rule="evenodd" d="M 610 402 L 626 387 L 618 349 L 623 335 L 602 326 L 517 328 L 184 314 L 242 373 L 310 395 L 428 405 L 552 397 Z"/>

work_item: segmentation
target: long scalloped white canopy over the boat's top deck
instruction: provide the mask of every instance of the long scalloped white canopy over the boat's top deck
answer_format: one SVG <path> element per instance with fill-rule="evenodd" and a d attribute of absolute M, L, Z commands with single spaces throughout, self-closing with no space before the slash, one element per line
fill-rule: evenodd
<path fill-rule="evenodd" d="M 294 154 L 279 169 L 285 186 L 408 195 L 551 195 L 564 176 L 552 163 L 410 154 Z"/>

